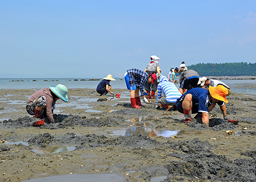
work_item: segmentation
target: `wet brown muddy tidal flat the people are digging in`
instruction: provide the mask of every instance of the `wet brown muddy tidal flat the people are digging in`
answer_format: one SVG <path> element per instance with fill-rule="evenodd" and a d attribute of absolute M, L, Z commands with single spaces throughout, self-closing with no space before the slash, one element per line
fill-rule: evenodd
<path fill-rule="evenodd" d="M 75 173 L 115 173 L 124 181 L 256 181 L 255 95 L 227 97 L 227 113 L 238 125 L 224 122 L 215 107 L 206 127 L 155 109 L 155 99 L 131 109 L 125 89 L 113 89 L 120 99 L 69 89 L 69 102 L 57 101 L 56 123 L 35 127 L 37 119 L 24 110 L 35 91 L 1 90 L 0 181 Z"/>

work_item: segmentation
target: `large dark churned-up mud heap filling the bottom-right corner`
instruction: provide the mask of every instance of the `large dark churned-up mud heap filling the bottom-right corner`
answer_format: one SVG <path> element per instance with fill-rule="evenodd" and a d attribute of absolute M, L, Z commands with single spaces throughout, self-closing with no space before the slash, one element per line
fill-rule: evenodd
<path fill-rule="evenodd" d="M 172 143 L 176 150 L 170 156 L 180 159 L 179 162 L 171 162 L 167 169 L 174 175 L 188 175 L 199 177 L 203 180 L 218 181 L 254 181 L 255 161 L 247 159 L 228 160 L 225 155 L 216 155 L 210 150 L 208 141 L 202 142 L 194 139 L 185 142 Z M 254 156 L 254 152 L 246 152 L 245 155 Z"/>

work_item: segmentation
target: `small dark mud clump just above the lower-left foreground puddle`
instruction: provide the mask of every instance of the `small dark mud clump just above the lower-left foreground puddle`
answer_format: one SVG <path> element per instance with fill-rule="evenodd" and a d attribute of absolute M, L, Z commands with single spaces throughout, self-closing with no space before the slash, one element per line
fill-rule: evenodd
<path fill-rule="evenodd" d="M 39 134 L 35 137 L 32 137 L 28 140 L 28 144 L 36 144 L 40 145 L 40 147 L 45 147 L 46 144 L 51 143 L 54 140 L 54 137 L 51 136 L 49 133 Z"/>

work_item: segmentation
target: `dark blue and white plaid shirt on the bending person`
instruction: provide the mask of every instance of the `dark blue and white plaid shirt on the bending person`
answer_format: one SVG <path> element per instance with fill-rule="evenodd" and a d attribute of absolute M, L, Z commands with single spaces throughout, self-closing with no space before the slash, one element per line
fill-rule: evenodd
<path fill-rule="evenodd" d="M 129 85 L 139 87 L 141 95 L 146 95 L 144 85 L 148 80 L 148 74 L 137 68 L 128 69 L 127 74 L 129 75 Z"/>

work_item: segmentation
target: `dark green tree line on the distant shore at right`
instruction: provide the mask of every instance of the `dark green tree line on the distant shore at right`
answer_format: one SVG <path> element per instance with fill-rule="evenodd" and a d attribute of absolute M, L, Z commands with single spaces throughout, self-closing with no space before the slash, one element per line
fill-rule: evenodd
<path fill-rule="evenodd" d="M 256 63 L 199 63 L 187 67 L 200 76 L 256 76 Z"/>

